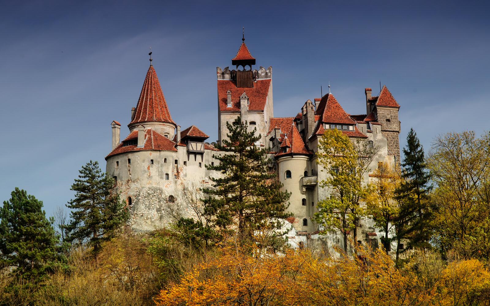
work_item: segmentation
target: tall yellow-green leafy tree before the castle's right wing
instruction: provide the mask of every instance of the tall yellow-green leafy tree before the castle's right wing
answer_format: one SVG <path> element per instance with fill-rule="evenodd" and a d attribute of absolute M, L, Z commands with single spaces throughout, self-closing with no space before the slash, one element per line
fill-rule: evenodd
<path fill-rule="evenodd" d="M 337 129 L 325 130 L 318 147 L 317 163 L 328 173 L 320 184 L 330 189 L 330 198 L 318 203 L 315 219 L 325 232 L 343 233 L 343 248 L 347 252 L 347 236 L 352 231 L 357 241 L 356 224 L 365 216 L 359 205 L 366 194 L 362 180 L 377 149 L 367 141 L 351 141 Z"/>

